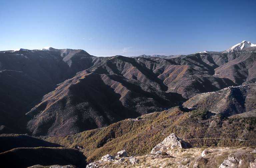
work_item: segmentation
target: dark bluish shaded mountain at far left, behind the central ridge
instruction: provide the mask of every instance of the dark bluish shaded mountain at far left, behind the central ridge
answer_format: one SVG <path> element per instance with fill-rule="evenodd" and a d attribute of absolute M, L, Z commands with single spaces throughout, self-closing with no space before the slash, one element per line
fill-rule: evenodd
<path fill-rule="evenodd" d="M 0 53 L 0 125 L 5 125 L 1 128 L 20 128 L 17 119 L 40 102 L 44 94 L 97 60 L 83 50 L 71 49 Z"/>

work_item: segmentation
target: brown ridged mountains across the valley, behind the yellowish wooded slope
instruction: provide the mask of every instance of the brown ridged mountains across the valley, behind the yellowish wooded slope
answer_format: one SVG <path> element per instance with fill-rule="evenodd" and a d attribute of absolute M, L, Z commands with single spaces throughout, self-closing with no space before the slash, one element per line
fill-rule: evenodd
<path fill-rule="evenodd" d="M 51 47 L 1 52 L 0 132 L 65 136 L 162 111 L 256 76 L 254 47 L 159 57 L 95 57 Z"/>

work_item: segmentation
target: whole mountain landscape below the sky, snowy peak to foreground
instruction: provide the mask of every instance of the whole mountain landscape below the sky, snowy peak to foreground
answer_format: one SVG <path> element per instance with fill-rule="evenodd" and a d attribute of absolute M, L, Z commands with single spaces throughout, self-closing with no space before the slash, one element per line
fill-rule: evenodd
<path fill-rule="evenodd" d="M 256 158 L 255 99 L 256 45 L 247 41 L 179 56 L 0 51 L 1 166 L 150 167 L 173 159 L 169 167 L 248 167 Z M 148 155 L 166 136 L 193 148 Z M 218 156 L 199 157 L 205 147 Z M 130 157 L 114 158 L 118 152 Z"/>

